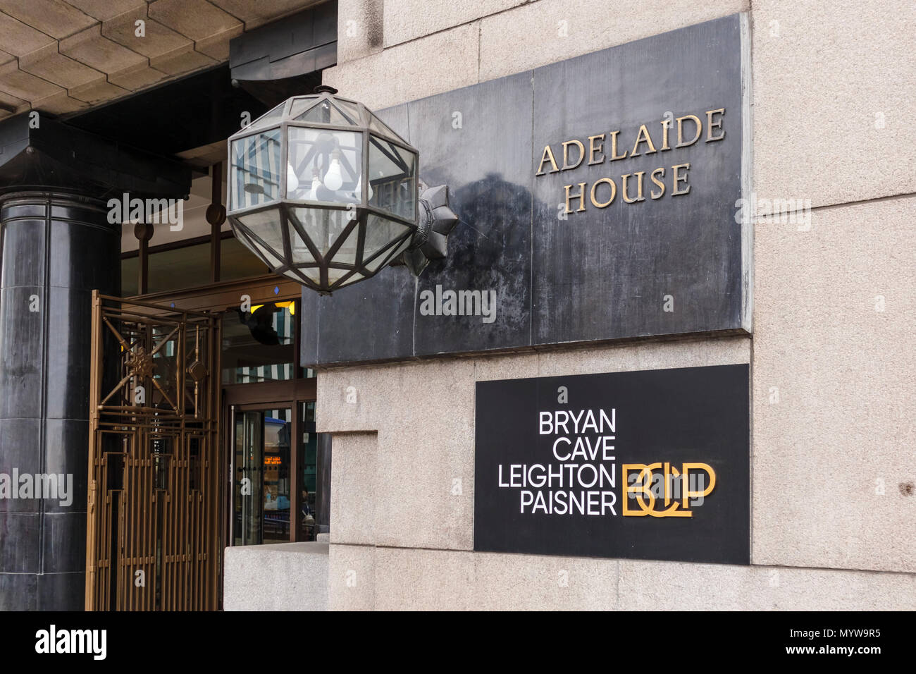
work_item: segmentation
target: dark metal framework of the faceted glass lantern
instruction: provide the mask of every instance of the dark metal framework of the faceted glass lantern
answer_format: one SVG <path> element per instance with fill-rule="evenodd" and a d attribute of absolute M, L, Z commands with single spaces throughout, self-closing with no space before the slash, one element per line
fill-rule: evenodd
<path fill-rule="evenodd" d="M 448 208 L 448 188 L 444 185 L 438 188 L 432 188 L 432 190 L 426 190 L 426 192 L 434 192 L 435 204 L 425 203 L 426 200 L 424 196 L 426 196 L 426 192 L 420 193 L 419 150 L 411 146 L 403 138 L 400 138 L 395 131 L 387 127 L 384 122 L 378 119 L 378 117 L 362 103 L 334 94 L 336 94 L 336 90 L 331 87 L 322 86 L 316 89 L 315 94 L 292 96 L 231 136 L 228 139 L 227 148 L 229 160 L 229 172 L 227 174 L 227 181 L 229 183 L 229 199 L 227 200 L 229 211 L 227 215 L 235 236 L 245 244 L 246 248 L 251 249 L 260 260 L 267 264 L 267 267 L 270 268 L 271 271 L 287 276 L 288 278 L 293 278 L 319 293 L 331 293 L 353 282 L 364 281 L 365 279 L 371 278 L 388 264 L 398 259 L 399 256 L 405 255 L 407 251 L 410 251 L 410 256 L 409 258 L 405 256 L 404 260 L 408 264 L 409 270 L 415 274 L 419 274 L 422 269 L 426 267 L 426 264 L 431 258 L 444 257 L 445 237 L 447 237 L 449 231 L 451 231 L 458 219 L 451 209 Z M 297 116 L 304 115 L 313 110 L 317 105 L 321 105 L 323 101 L 329 101 L 337 113 L 344 116 L 344 119 L 352 121 L 353 124 L 297 120 L 293 117 L 292 110 L 293 105 L 296 105 L 296 103 L 300 101 L 308 102 L 309 105 L 305 105 L 301 112 L 297 112 Z M 336 102 L 353 105 L 357 110 L 359 119 L 351 120 L 348 111 L 345 111 L 342 106 L 334 105 Z M 265 120 L 266 116 L 271 117 Z M 288 172 L 290 166 L 290 148 L 293 142 L 289 134 L 290 129 L 294 128 L 361 134 L 360 165 L 357 167 L 361 181 L 358 204 L 355 203 L 355 199 L 354 203 L 343 204 L 340 202 L 323 201 L 321 199 L 294 199 L 289 197 Z M 264 134 L 274 134 L 277 131 L 279 132 L 279 182 L 276 195 L 271 197 L 266 203 L 252 204 L 242 208 L 233 208 L 234 202 L 238 200 L 238 197 L 232 194 L 234 143 L 237 141 L 244 141 L 245 138 L 255 138 Z M 408 152 L 413 157 L 413 171 L 410 180 L 413 182 L 412 189 L 414 193 L 410 199 L 410 204 L 412 204 L 412 214 L 410 214 L 410 217 L 405 217 L 404 215 L 393 213 L 391 210 L 370 204 L 372 198 L 369 193 L 371 189 L 371 179 L 368 175 L 371 161 L 370 147 L 375 146 L 376 149 L 386 155 L 387 159 L 391 160 L 396 166 L 404 163 L 403 158 L 398 157 L 395 159 L 387 149 L 374 143 L 374 137 L 390 144 L 395 149 L 402 149 Z M 307 165 L 317 151 L 319 151 L 317 148 L 311 149 L 310 154 L 301 161 L 301 164 Z M 353 171 L 351 171 L 351 173 L 353 173 Z M 299 180 L 298 176 L 297 180 Z M 421 201 L 424 203 L 421 204 Z M 350 213 L 354 211 L 354 215 L 349 216 L 348 221 L 340 230 L 340 233 L 336 235 L 333 245 L 322 255 L 318 246 L 312 240 L 312 236 L 305 222 L 300 221 L 300 217 L 296 214 L 295 209 L 298 208 L 314 209 L 329 213 L 337 211 L 341 212 L 342 215 L 344 212 Z M 276 245 L 267 243 L 267 241 L 258 236 L 256 231 L 252 231 L 251 227 L 246 225 L 242 220 L 242 218 L 248 215 L 255 215 L 262 212 L 271 212 L 272 214 L 276 213 L 278 215 L 278 225 L 283 245 L 282 251 L 278 250 Z M 391 241 L 381 249 L 376 250 L 371 257 L 364 260 L 365 238 L 367 227 L 370 227 L 369 217 L 371 215 L 376 215 L 381 218 L 382 221 L 391 221 L 406 227 L 406 229 L 403 234 L 396 238 L 392 238 Z M 358 232 L 354 262 L 348 263 L 334 260 L 337 252 L 344 246 L 344 243 L 349 240 L 355 228 L 358 228 Z M 301 239 L 301 243 L 309 250 L 312 259 L 310 262 L 297 262 L 294 260 L 293 241 L 290 237 L 290 229 L 296 232 Z M 428 241 L 431 231 L 440 233 L 439 238 L 434 242 L 436 245 L 431 245 Z M 442 234 L 442 232 L 444 232 L 444 234 Z M 420 233 L 419 236 L 418 233 Z M 300 245 L 299 241 L 295 243 L 297 246 Z M 261 252 L 261 249 L 271 251 L 276 260 L 267 259 L 267 256 Z M 278 266 L 277 262 L 281 264 Z M 315 282 L 303 273 L 302 270 L 305 269 L 317 270 L 319 281 Z M 331 269 L 343 271 L 344 273 L 331 282 L 329 278 L 329 270 Z"/>

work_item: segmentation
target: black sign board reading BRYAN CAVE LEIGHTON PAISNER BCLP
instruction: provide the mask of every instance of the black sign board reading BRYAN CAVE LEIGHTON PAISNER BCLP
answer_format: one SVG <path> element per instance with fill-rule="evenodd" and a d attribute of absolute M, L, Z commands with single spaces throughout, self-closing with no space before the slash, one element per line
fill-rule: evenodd
<path fill-rule="evenodd" d="M 750 563 L 747 365 L 476 387 L 474 550 Z"/>

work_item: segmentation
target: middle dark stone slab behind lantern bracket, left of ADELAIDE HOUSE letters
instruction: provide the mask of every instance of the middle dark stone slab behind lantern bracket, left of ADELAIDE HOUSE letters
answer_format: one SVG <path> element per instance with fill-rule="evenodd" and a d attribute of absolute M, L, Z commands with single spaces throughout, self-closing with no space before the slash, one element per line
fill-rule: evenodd
<path fill-rule="evenodd" d="M 436 147 L 421 160 L 422 179 L 449 185 L 449 203 L 459 217 L 449 257 L 420 275 L 418 356 L 529 342 L 531 129 L 518 120 L 530 117 L 531 76 L 524 72 L 473 90 L 409 104 L 410 141 Z M 444 315 L 445 293 L 465 290 L 481 293 L 480 311 Z"/>

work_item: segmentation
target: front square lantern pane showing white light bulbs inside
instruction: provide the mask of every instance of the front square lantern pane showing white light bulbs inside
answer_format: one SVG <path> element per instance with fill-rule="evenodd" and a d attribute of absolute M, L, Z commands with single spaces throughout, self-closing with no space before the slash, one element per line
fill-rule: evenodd
<path fill-rule="evenodd" d="M 287 198 L 354 204 L 361 198 L 363 134 L 289 127 Z"/>

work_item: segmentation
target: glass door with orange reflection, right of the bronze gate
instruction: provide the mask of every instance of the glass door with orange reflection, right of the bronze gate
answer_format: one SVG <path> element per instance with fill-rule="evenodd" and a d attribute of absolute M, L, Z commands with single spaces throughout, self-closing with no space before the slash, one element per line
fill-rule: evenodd
<path fill-rule="evenodd" d="M 292 405 L 234 414 L 233 545 L 290 540 Z"/>

